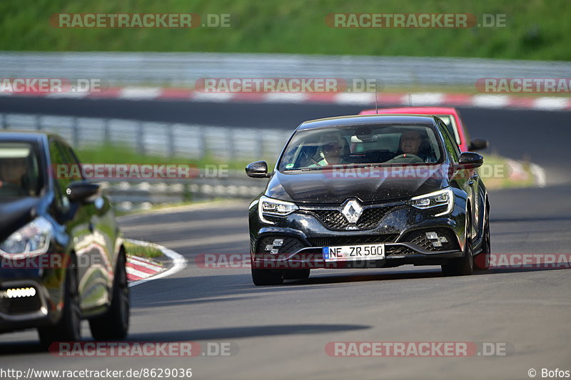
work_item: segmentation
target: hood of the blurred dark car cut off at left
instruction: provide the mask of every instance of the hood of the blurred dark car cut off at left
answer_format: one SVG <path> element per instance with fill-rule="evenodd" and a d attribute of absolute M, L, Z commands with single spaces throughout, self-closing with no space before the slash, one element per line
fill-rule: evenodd
<path fill-rule="evenodd" d="M 0 242 L 34 219 L 40 203 L 36 197 L 0 200 Z"/>

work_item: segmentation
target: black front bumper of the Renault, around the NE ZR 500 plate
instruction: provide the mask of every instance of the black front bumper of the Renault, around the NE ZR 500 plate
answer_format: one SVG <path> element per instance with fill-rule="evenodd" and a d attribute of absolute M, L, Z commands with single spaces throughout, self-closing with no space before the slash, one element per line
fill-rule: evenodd
<path fill-rule="evenodd" d="M 309 207 L 311 208 L 311 207 Z M 381 205 L 378 222 L 363 224 L 358 230 L 340 230 L 334 218 L 323 220 L 323 212 L 302 209 L 286 217 L 267 217 L 268 225 L 258 217 L 258 207 L 251 207 L 251 254 L 256 268 L 363 268 L 399 265 L 443 265 L 463 256 L 465 212 L 455 205 L 453 212 L 434 217 L 433 210 L 418 210 L 404 202 Z M 372 228 L 368 228 L 373 225 Z M 426 232 L 437 232 L 439 247 Z M 275 243 L 277 246 L 274 246 Z M 325 262 L 323 247 L 339 245 L 385 246 L 383 260 Z"/>

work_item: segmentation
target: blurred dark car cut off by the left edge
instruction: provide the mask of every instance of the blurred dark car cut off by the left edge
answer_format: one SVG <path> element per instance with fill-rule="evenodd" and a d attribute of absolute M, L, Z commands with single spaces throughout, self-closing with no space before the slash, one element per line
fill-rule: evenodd
<path fill-rule="evenodd" d="M 89 319 L 96 339 L 127 334 L 118 225 L 80 168 L 57 135 L 0 133 L 0 332 L 37 328 L 49 346 L 79 340 Z"/>

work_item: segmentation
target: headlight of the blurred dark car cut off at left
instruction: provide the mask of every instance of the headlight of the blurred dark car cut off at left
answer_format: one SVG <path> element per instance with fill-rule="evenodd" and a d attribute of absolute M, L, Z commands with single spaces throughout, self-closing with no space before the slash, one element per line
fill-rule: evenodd
<path fill-rule="evenodd" d="M 51 224 L 37 217 L 0 244 L 0 252 L 9 255 L 34 255 L 48 252 Z"/>

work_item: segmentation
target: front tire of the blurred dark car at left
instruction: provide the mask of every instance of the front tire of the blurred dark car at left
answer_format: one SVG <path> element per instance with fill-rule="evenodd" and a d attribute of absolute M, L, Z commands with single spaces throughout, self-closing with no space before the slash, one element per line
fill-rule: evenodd
<path fill-rule="evenodd" d="M 71 263 L 66 269 L 64 289 L 64 309 L 55 326 L 39 327 L 38 334 L 41 346 L 49 349 L 54 342 L 78 342 L 81 340 L 81 307 L 77 280 L 77 260 L 71 256 Z"/>

